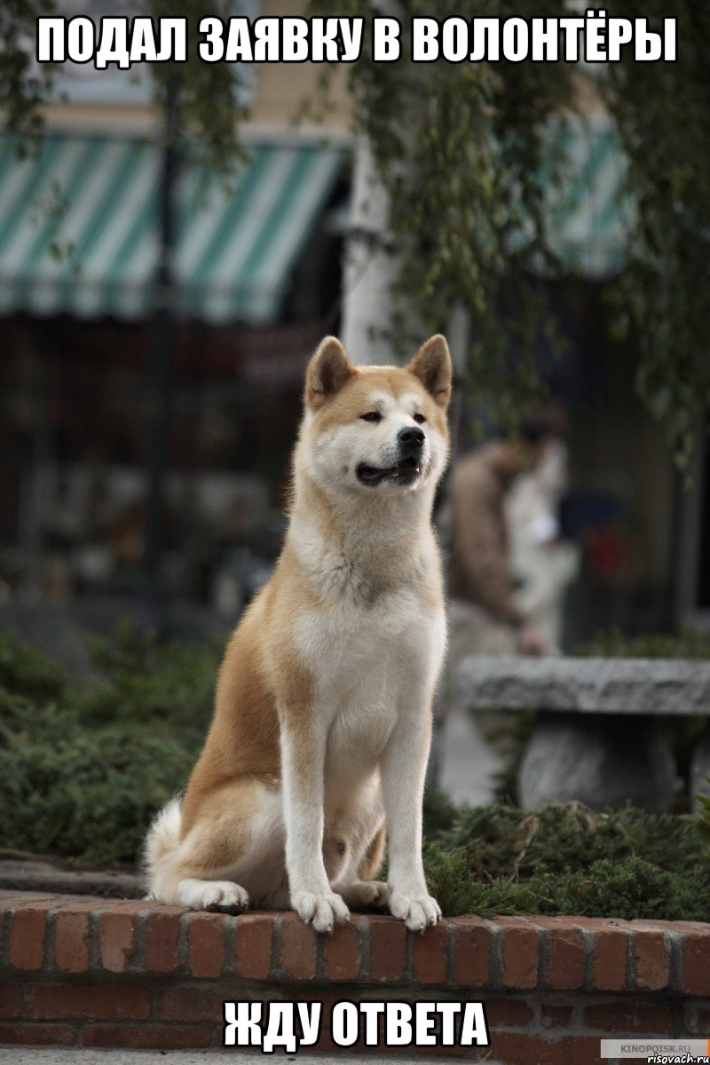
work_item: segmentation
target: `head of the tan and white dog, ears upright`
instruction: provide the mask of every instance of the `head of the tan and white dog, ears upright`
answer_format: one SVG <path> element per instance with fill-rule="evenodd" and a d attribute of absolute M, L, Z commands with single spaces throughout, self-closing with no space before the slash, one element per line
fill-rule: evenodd
<path fill-rule="evenodd" d="M 326 337 L 306 372 L 301 446 L 328 494 L 418 492 L 436 484 L 448 456 L 451 359 L 428 340 L 403 368 L 356 366 Z"/>

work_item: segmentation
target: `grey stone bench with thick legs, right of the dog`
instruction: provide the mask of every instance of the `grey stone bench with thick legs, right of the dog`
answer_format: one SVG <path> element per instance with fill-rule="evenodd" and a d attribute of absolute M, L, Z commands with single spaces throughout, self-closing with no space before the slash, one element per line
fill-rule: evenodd
<path fill-rule="evenodd" d="M 540 711 L 518 775 L 521 805 L 579 800 L 670 809 L 681 786 L 659 717 L 710 716 L 710 662 L 645 658 L 468 657 L 459 670 L 474 710 Z M 691 789 L 708 791 L 710 737 Z"/>

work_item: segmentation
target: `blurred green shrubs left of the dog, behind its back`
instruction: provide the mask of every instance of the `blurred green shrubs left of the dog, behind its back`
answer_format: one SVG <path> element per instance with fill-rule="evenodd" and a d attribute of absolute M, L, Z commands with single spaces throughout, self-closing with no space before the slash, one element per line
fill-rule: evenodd
<path fill-rule="evenodd" d="M 89 650 L 95 674 L 69 684 L 0 634 L 0 843 L 79 864 L 135 862 L 199 755 L 219 653 L 160 644 L 129 623 Z"/>

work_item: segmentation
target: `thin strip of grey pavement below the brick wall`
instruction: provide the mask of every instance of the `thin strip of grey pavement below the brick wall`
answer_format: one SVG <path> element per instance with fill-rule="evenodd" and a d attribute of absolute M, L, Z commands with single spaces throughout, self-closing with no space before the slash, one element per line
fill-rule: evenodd
<path fill-rule="evenodd" d="M 225 1061 L 227 1055 L 233 1055 L 243 1065 L 260 1065 L 264 1063 L 261 1050 L 75 1050 L 72 1047 L 0 1047 L 0 1062 L 3 1065 L 165 1065 L 175 1062 L 176 1065 L 204 1065 L 205 1062 Z M 375 1055 L 360 1056 L 343 1050 L 340 1054 L 280 1054 L 278 1051 L 268 1058 L 279 1062 L 294 1062 L 297 1065 L 343 1065 L 344 1062 L 373 1065 L 381 1061 Z M 396 1058 L 396 1065 L 426 1065 L 427 1062 L 439 1062 L 441 1058 L 426 1058 L 417 1054 L 415 1058 Z M 489 1062 L 489 1065 L 500 1065 L 499 1062 Z"/>

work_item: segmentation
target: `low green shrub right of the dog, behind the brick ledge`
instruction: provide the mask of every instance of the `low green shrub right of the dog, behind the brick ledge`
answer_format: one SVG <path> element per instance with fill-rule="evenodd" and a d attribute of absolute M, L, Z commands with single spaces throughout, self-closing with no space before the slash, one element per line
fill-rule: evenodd
<path fill-rule="evenodd" d="M 478 806 L 430 834 L 425 858 L 446 913 L 710 920 L 710 851 L 689 816 Z"/>

